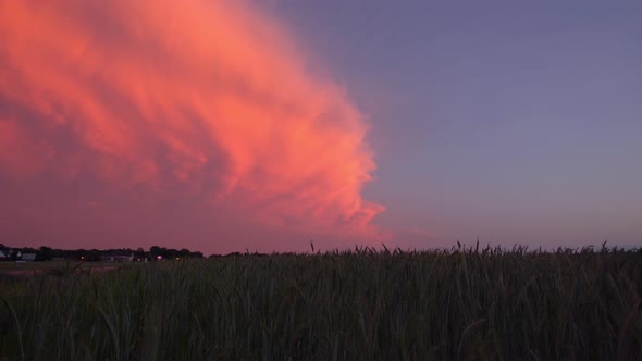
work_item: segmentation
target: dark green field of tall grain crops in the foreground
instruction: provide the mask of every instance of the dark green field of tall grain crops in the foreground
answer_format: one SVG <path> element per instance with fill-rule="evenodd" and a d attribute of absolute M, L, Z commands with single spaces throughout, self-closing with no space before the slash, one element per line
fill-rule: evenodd
<path fill-rule="evenodd" d="M 245 254 L 0 296 L 10 360 L 642 358 L 642 251 Z"/>

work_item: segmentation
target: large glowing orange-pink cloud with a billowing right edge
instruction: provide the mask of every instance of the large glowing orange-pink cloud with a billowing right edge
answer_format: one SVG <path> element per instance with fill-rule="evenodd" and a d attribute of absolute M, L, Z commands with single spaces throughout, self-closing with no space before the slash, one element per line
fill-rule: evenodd
<path fill-rule="evenodd" d="M 0 0 L 0 172 L 180 185 L 360 236 L 383 207 L 359 111 L 237 1 Z"/>

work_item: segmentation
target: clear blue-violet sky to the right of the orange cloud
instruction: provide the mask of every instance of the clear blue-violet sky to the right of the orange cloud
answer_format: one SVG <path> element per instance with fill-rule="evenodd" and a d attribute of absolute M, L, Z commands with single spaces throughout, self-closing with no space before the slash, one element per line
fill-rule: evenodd
<path fill-rule="evenodd" d="M 639 1 L 267 8 L 367 114 L 402 245 L 640 244 Z"/>

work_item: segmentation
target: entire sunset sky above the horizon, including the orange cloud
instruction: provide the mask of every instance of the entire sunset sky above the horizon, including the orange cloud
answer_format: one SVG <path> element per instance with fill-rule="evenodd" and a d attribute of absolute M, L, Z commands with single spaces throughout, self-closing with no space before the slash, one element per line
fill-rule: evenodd
<path fill-rule="evenodd" d="M 0 0 L 0 242 L 642 245 L 639 1 Z"/>

